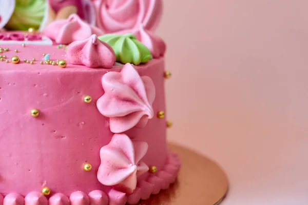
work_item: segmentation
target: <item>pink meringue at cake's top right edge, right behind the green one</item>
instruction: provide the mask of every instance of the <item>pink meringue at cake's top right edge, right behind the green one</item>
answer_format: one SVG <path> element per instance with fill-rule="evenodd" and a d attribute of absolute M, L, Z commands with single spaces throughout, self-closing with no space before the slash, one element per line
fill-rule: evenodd
<path fill-rule="evenodd" d="M 140 29 L 134 31 L 133 34 L 150 50 L 153 58 L 164 56 L 166 52 L 166 44 L 160 37 L 149 30 L 145 30 L 143 26 L 140 26 Z"/>

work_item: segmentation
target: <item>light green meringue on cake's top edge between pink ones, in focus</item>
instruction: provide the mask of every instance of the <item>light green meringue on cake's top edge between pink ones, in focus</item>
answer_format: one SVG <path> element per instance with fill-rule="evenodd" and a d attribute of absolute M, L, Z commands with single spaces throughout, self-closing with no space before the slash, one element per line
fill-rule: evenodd
<path fill-rule="evenodd" d="M 98 38 L 112 47 L 117 61 L 123 64 L 139 65 L 152 58 L 149 49 L 131 33 L 124 35 L 106 34 Z"/>

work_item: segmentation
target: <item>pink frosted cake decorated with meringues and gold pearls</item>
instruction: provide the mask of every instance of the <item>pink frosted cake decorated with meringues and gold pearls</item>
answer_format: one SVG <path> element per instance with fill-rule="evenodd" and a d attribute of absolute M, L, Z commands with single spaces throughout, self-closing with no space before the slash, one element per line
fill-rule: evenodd
<path fill-rule="evenodd" d="M 106 28 L 72 15 L 0 34 L 0 205 L 136 204 L 175 182 L 165 44 Z"/>

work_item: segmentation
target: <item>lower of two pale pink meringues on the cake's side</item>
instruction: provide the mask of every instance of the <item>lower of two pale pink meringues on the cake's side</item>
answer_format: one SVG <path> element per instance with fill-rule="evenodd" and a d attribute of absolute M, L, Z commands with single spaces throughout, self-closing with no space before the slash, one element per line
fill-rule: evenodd
<path fill-rule="evenodd" d="M 148 171 L 141 161 L 148 149 L 143 141 L 131 141 L 126 134 L 114 134 L 100 151 L 99 181 L 106 186 L 131 194 L 137 186 L 137 177 Z"/>

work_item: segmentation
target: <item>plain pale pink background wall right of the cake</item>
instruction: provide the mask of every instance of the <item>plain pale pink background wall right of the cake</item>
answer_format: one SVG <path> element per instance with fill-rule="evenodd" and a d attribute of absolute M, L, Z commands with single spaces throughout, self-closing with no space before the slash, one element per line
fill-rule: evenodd
<path fill-rule="evenodd" d="M 307 8 L 164 1 L 169 140 L 223 167 L 223 205 L 308 204 Z"/>

